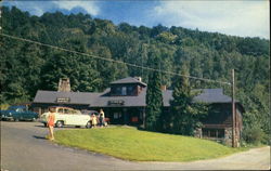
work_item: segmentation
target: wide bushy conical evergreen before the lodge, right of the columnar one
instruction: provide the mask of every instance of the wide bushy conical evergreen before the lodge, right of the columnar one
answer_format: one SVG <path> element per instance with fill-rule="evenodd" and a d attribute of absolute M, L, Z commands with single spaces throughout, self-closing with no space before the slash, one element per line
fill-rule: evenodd
<path fill-rule="evenodd" d="M 181 75 L 188 76 L 185 65 L 182 65 Z M 189 78 L 179 77 L 176 79 L 173 100 L 170 102 L 171 133 L 193 135 L 196 128 L 201 127 L 199 118 L 206 114 L 206 107 L 193 102 L 194 92 L 191 91 Z"/>

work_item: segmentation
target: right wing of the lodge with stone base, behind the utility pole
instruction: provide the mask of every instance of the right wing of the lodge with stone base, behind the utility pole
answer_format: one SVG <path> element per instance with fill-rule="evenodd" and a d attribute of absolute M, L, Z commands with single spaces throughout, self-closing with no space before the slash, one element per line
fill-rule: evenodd
<path fill-rule="evenodd" d="M 232 144 L 232 98 L 223 94 L 222 89 L 204 89 L 203 93 L 194 97 L 195 102 L 210 104 L 210 110 L 206 118 L 202 119 L 203 127 L 196 130 L 197 137 L 215 140 L 217 142 Z M 245 111 L 241 103 L 235 103 L 235 141 L 240 146 L 243 128 L 242 114 Z"/>

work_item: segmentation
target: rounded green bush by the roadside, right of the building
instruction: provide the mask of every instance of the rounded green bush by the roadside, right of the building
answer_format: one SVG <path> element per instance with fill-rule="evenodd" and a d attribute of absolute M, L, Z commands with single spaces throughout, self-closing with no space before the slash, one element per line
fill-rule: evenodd
<path fill-rule="evenodd" d="M 267 134 L 258 127 L 245 128 L 242 133 L 243 140 L 248 144 L 267 143 Z"/>

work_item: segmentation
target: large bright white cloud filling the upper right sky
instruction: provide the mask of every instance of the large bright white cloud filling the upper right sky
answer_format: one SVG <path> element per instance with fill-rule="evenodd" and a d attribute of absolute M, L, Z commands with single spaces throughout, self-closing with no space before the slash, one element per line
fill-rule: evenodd
<path fill-rule="evenodd" d="M 269 38 L 269 1 L 162 1 L 151 17 L 166 26 Z"/>

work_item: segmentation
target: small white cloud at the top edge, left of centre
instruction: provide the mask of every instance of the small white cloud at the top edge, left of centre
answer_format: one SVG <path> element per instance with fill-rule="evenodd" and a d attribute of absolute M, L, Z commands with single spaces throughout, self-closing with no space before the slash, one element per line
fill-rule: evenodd
<path fill-rule="evenodd" d="M 57 4 L 60 9 L 73 10 L 74 8 L 82 8 L 91 15 L 99 14 L 99 8 L 95 4 L 95 1 L 53 1 Z"/>

